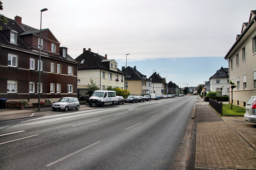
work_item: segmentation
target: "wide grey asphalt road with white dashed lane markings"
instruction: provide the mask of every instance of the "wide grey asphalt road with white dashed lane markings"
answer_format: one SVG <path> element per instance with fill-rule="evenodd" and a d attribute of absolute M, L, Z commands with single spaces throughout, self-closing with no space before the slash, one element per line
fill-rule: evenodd
<path fill-rule="evenodd" d="M 0 169 L 170 169 L 196 96 L 0 122 Z"/>

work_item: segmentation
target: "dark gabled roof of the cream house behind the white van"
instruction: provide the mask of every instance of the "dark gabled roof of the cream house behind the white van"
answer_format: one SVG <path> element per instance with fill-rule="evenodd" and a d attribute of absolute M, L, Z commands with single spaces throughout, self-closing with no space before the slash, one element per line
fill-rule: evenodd
<path fill-rule="evenodd" d="M 76 57 L 75 59 L 78 63 L 80 63 L 78 65 L 78 70 L 82 70 L 82 69 L 104 69 L 104 70 L 109 70 L 111 72 L 115 72 L 114 70 L 110 70 L 110 68 L 108 66 L 106 66 L 106 64 L 104 64 L 104 62 L 110 62 L 112 60 L 106 60 L 105 57 L 98 55 L 97 53 L 93 53 L 91 51 L 84 51 L 81 55 L 79 55 L 78 57 Z M 84 63 L 81 63 L 81 61 L 84 60 Z M 124 74 L 121 70 L 119 70 L 117 68 L 117 71 L 120 74 Z"/>

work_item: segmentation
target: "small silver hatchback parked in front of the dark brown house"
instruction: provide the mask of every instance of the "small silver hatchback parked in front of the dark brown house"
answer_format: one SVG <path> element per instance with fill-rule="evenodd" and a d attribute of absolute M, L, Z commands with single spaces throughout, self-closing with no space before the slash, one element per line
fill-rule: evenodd
<path fill-rule="evenodd" d="M 60 98 L 58 102 L 55 102 L 52 104 L 52 110 L 65 110 L 68 111 L 68 109 L 76 108 L 77 110 L 80 107 L 80 103 L 78 102 L 77 98 L 71 98 L 71 97 L 65 97 Z"/>

